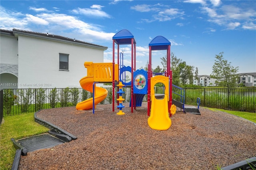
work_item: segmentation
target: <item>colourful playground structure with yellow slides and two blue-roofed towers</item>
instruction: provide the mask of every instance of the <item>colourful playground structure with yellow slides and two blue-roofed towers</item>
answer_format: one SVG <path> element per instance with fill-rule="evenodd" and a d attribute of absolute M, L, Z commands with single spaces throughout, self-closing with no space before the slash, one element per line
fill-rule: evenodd
<path fill-rule="evenodd" d="M 115 87 L 119 88 L 117 92 L 117 108 L 120 111 L 118 115 L 123 115 L 122 108 L 122 87 L 131 88 L 130 107 L 131 113 L 136 107 L 142 105 L 142 100 L 147 95 L 148 104 L 148 125 L 156 130 L 166 130 L 171 126 L 171 120 L 168 113 L 172 105 L 172 71 L 170 70 L 170 46 L 169 40 L 163 36 L 156 36 L 149 43 L 149 63 L 148 71 L 144 69 L 136 70 L 136 41 L 134 36 L 128 30 L 121 30 L 113 38 L 113 61 L 112 63 L 92 63 L 85 62 L 87 76 L 80 80 L 83 89 L 93 93 L 93 98 L 82 101 L 76 105 L 77 110 L 94 109 L 95 106 L 106 98 L 108 91 L 101 87 L 95 87 L 95 83 L 112 83 L 112 111 L 115 107 Z M 117 44 L 117 64 L 115 63 L 115 44 Z M 123 53 L 120 53 L 120 45 L 131 45 L 131 67 L 123 64 Z M 167 51 L 167 69 L 165 73 L 152 73 L 152 51 Z M 119 84 L 117 85 L 117 83 Z M 164 94 L 156 94 L 154 86 L 156 83 L 164 85 Z M 95 88 L 95 90 L 94 90 Z M 178 102 L 178 101 L 176 101 Z M 180 108 L 185 108 L 184 103 Z M 94 111 L 94 110 L 93 110 Z M 94 112 L 93 112 L 94 113 Z"/>

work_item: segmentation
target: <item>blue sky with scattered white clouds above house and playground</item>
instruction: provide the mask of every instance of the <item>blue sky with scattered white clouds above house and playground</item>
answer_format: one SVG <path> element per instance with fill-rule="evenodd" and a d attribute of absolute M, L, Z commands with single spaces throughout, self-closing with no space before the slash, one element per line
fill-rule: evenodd
<path fill-rule="evenodd" d="M 136 40 L 137 69 L 148 61 L 150 41 L 164 36 L 171 52 L 198 67 L 199 75 L 212 73 L 222 51 L 239 73 L 256 72 L 255 0 L 1 0 L 0 26 L 107 46 L 104 62 L 112 62 L 114 34 L 127 29 Z M 120 50 L 130 65 L 130 45 Z M 165 55 L 153 51 L 153 69 L 162 67 Z"/>

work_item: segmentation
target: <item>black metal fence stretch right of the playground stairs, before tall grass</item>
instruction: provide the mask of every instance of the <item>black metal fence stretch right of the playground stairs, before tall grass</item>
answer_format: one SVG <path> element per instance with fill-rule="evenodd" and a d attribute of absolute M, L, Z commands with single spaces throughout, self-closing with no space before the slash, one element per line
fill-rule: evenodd
<path fill-rule="evenodd" d="M 197 105 L 218 109 L 256 112 L 256 89 L 185 88 L 186 105 Z"/>

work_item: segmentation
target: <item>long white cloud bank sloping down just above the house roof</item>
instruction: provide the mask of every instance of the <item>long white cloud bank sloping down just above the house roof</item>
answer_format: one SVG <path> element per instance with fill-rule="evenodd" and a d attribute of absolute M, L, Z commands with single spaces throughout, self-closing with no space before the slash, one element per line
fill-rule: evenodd
<path fill-rule="evenodd" d="M 61 36 L 74 37 L 86 42 L 111 42 L 115 33 L 107 33 L 97 25 L 89 24 L 74 16 L 57 13 L 40 13 L 36 16 L 6 10 L 1 6 L 1 29 L 29 30 L 34 32 L 51 32 Z M 38 27 L 40 26 L 40 27 Z M 45 27 L 44 27 L 45 26 Z M 68 32 L 68 33 L 67 33 Z"/>

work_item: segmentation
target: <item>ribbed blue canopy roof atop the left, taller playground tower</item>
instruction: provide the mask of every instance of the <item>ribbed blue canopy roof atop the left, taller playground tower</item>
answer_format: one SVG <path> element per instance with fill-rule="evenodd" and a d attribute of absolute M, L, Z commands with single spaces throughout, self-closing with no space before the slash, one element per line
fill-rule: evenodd
<path fill-rule="evenodd" d="M 136 43 L 134 36 L 130 31 L 121 30 L 113 36 L 112 40 L 115 40 L 115 43 L 117 44 L 131 44 L 132 38 L 134 40 L 133 43 Z"/>

